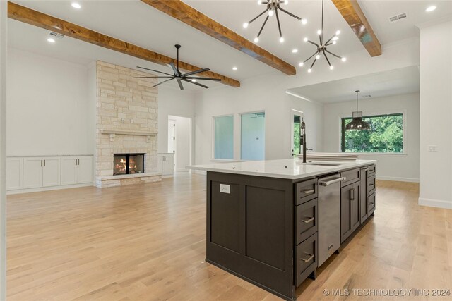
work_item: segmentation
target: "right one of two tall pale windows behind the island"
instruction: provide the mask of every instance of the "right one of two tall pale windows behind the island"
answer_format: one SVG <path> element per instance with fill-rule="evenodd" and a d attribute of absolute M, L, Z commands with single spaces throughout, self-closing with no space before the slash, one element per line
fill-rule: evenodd
<path fill-rule="evenodd" d="M 246 113 L 241 116 L 242 160 L 264 160 L 266 149 L 266 113 Z"/>

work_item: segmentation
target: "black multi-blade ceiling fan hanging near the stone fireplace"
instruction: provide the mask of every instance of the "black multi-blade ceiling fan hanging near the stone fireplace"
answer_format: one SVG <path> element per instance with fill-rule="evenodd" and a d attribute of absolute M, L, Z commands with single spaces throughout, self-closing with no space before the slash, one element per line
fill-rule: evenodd
<path fill-rule="evenodd" d="M 169 74 L 169 73 L 165 73 L 165 72 L 161 72 L 161 71 L 157 71 L 157 70 L 153 70 L 153 69 L 149 69 L 149 68 L 144 68 L 144 67 L 140 67 L 137 66 L 137 68 L 141 68 L 141 69 L 145 69 L 145 70 L 150 70 L 153 72 L 157 72 L 157 73 L 162 73 L 165 74 L 166 76 L 137 76 L 136 78 L 169 78 L 168 80 L 164 80 L 162 82 L 159 82 L 157 85 L 154 85 L 153 87 L 157 87 L 158 85 L 162 85 L 165 82 L 169 82 L 169 80 L 177 80 L 177 83 L 179 84 L 179 87 L 181 88 L 181 90 L 184 90 L 184 86 L 182 85 L 182 81 L 184 82 L 190 82 L 191 84 L 197 85 L 199 87 L 203 87 L 203 88 L 208 88 L 206 85 L 202 85 L 198 82 L 196 82 L 196 80 L 215 80 L 215 81 L 221 81 L 219 78 L 198 78 L 196 75 L 198 73 L 202 73 L 202 72 L 206 72 L 208 70 L 210 70 L 209 68 L 204 68 L 204 69 L 199 69 L 196 71 L 192 71 L 189 73 L 185 73 L 182 74 L 179 71 L 179 48 L 181 48 L 181 45 L 176 44 L 174 45 L 174 47 L 176 47 L 177 49 L 177 66 L 174 66 L 174 63 L 169 63 L 169 65 L 172 68 L 172 71 L 174 72 L 174 75 Z"/>

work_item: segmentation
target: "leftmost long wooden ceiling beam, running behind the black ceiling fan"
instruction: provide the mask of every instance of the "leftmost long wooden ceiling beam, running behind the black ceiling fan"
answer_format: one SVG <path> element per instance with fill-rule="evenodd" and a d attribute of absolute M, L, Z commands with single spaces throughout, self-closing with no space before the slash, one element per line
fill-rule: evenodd
<path fill-rule="evenodd" d="M 114 37 L 102 35 L 99 32 L 95 32 L 93 30 L 89 30 L 88 28 L 69 23 L 65 20 L 46 15 L 45 13 L 40 13 L 39 11 L 33 11 L 30 8 L 14 4 L 13 2 L 8 2 L 8 17 L 23 23 L 44 28 L 45 30 L 58 32 L 61 33 L 61 35 L 73 37 L 74 39 L 80 39 L 83 42 L 105 47 L 129 56 L 135 56 L 138 59 L 143 59 L 145 61 L 150 61 L 163 66 L 167 66 L 167 64 L 171 62 L 174 64 L 177 63 L 176 59 L 172 59 L 169 56 L 157 54 L 157 52 L 150 51 L 149 49 L 121 41 L 120 39 L 115 39 Z M 186 71 L 202 69 L 198 66 L 184 63 L 182 61 L 179 61 L 179 67 Z M 198 73 L 197 75 L 203 75 L 208 78 L 218 78 L 221 80 L 222 84 L 229 85 L 231 87 L 240 87 L 240 82 L 238 80 L 227 78 L 224 75 L 220 75 L 212 71 Z"/>

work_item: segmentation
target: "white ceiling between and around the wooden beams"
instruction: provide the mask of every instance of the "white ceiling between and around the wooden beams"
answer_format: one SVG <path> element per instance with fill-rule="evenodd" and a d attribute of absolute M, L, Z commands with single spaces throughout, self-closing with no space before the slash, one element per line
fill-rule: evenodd
<path fill-rule="evenodd" d="M 241 51 L 233 49 L 138 0 L 79 0 L 78 2 L 82 5 L 80 10 L 71 8 L 71 1 L 14 0 L 14 2 L 167 56 L 175 57 L 174 44 L 182 44 L 180 55 L 182 61 L 201 68 L 210 68 L 216 73 L 237 80 L 279 73 L 278 70 L 252 59 Z M 242 27 L 244 22 L 263 11 L 263 7 L 258 6 L 256 0 L 186 0 L 185 2 L 251 41 L 263 22 L 263 17 L 261 17 L 256 20 L 256 23 L 249 25 L 246 30 Z M 359 1 L 359 4 L 382 44 L 419 35 L 415 28 L 417 23 L 448 15 L 452 16 L 452 1 L 368 0 Z M 424 10 L 430 4 L 435 4 L 438 9 L 432 13 L 426 13 Z M 316 38 L 316 30 L 320 27 L 321 1 L 290 0 L 285 8 L 302 18 L 307 18 L 307 25 L 301 25 L 295 18 L 285 14 L 281 15 L 280 21 L 285 42 L 280 44 L 278 42 L 277 25 L 273 16 L 263 30 L 258 44 L 281 59 L 298 66 L 300 61 L 306 59 L 315 50 L 313 45 L 302 42 L 302 39 L 303 37 Z M 402 12 L 408 13 L 408 18 L 396 23 L 389 23 L 388 17 Z M 128 67 L 145 66 L 162 71 L 168 70 L 165 66 L 134 59 L 124 54 L 117 54 L 114 51 L 69 37 L 65 37 L 56 44 L 49 44 L 45 41 L 47 30 L 41 30 L 32 25 L 23 25 L 13 20 L 10 20 L 8 25 L 8 41 L 11 47 L 76 63 L 88 63 L 101 59 L 110 60 L 112 63 L 122 63 Z M 341 30 L 342 33 L 338 44 L 331 45 L 331 51 L 334 53 L 352 59 L 349 54 L 364 49 L 333 3 L 326 0 L 324 32 L 329 35 L 330 33 L 333 34 L 335 30 Z M 299 49 L 297 54 L 292 54 L 294 48 Z M 336 62 L 333 61 L 333 64 Z M 326 62 L 323 60 L 319 63 Z M 233 66 L 237 66 L 239 69 L 234 71 L 232 70 Z M 329 72 L 329 70 L 326 72 Z M 220 84 L 208 82 L 208 85 L 213 87 Z"/>

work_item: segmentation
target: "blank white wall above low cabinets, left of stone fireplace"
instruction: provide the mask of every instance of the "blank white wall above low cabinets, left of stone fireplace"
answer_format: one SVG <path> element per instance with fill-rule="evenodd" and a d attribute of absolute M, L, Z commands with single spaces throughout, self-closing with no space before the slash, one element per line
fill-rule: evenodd
<path fill-rule="evenodd" d="M 93 154 L 88 68 L 8 51 L 8 156 Z"/>

